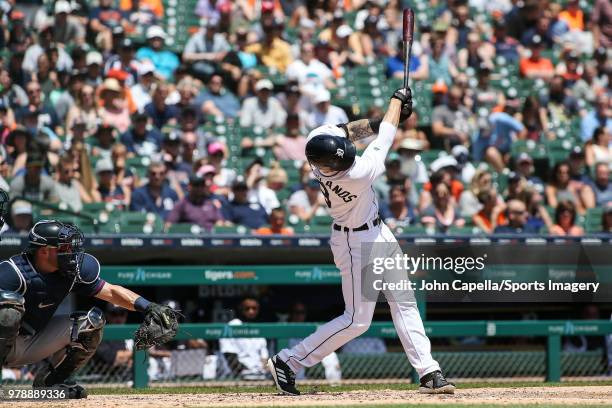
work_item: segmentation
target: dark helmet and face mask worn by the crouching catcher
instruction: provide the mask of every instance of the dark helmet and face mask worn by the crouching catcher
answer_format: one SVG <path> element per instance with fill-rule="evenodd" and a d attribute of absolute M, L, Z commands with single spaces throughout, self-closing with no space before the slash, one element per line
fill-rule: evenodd
<path fill-rule="evenodd" d="M 37 222 L 30 230 L 29 247 L 32 253 L 37 248 L 57 248 L 59 274 L 74 280 L 79 276 L 83 263 L 83 233 L 73 224 L 55 220 Z"/>

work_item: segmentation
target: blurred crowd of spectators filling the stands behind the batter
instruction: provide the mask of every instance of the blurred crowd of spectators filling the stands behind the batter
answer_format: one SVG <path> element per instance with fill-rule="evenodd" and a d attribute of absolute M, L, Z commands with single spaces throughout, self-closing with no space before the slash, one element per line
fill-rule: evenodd
<path fill-rule="evenodd" d="M 40 202 L 145 212 L 167 231 L 329 228 L 305 137 L 382 115 L 405 6 L 415 113 L 376 185 L 381 218 L 404 232 L 611 232 L 606 0 L 2 0 L 11 228 Z"/>

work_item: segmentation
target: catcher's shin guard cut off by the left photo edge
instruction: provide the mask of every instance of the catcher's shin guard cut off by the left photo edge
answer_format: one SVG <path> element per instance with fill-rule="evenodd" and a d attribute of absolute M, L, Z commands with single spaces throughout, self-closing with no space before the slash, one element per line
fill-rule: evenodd
<path fill-rule="evenodd" d="M 0 368 L 19 334 L 24 303 L 25 299 L 19 293 L 0 290 Z"/>

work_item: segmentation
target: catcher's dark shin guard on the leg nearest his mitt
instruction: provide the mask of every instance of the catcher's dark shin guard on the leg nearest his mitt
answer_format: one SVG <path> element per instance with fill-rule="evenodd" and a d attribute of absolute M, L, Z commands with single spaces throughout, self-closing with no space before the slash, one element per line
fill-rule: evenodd
<path fill-rule="evenodd" d="M 96 352 L 106 323 L 102 310 L 94 307 L 87 313 L 72 313 L 70 318 L 72 319 L 71 342 L 64 358 L 55 366 L 46 364 L 36 374 L 34 387 L 64 384 L 66 379 L 83 367 Z"/>

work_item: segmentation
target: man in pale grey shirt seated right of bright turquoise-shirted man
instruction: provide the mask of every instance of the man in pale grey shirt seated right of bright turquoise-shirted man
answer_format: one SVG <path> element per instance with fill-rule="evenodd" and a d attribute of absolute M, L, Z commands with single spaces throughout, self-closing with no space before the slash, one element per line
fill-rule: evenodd
<path fill-rule="evenodd" d="M 219 72 L 223 59 L 231 47 L 222 33 L 217 32 L 218 20 L 205 19 L 183 49 L 183 61 L 191 64 L 194 73 L 208 78 Z"/>

